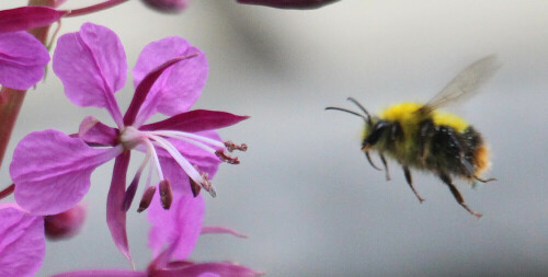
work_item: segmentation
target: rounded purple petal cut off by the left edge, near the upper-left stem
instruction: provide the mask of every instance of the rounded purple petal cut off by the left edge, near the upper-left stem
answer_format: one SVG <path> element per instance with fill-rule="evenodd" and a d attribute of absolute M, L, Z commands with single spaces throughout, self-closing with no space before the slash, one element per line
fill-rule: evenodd
<path fill-rule="evenodd" d="M 0 34 L 0 84 L 27 90 L 42 80 L 47 62 L 49 54 L 46 47 L 31 34 Z"/>

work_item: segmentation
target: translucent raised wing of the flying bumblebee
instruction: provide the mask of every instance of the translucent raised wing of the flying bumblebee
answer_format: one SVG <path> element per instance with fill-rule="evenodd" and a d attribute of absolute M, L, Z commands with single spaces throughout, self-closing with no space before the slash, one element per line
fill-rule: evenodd
<path fill-rule="evenodd" d="M 449 102 L 473 95 L 481 84 L 493 77 L 500 67 L 495 55 L 490 55 L 475 61 L 460 71 L 455 79 L 421 107 L 419 112 L 427 114 Z"/>

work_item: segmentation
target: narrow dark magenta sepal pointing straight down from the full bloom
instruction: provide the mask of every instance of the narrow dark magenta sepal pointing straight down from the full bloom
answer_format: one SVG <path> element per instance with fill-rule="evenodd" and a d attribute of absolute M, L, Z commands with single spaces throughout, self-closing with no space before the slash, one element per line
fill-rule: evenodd
<path fill-rule="evenodd" d="M 124 210 L 124 196 L 126 192 L 126 175 L 129 165 L 129 151 L 116 158 L 112 174 L 111 189 L 106 199 L 106 223 L 111 230 L 114 244 L 119 252 L 132 262 L 129 244 L 127 243 L 126 211 Z"/>

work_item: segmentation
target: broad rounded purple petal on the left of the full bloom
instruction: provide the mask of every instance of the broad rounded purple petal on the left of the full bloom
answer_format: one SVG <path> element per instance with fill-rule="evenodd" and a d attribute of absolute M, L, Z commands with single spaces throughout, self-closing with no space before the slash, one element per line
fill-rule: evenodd
<path fill-rule="evenodd" d="M 121 152 L 122 147 L 94 149 L 57 130 L 32 132 L 10 164 L 15 200 L 37 215 L 65 211 L 88 193 L 93 170 Z"/>

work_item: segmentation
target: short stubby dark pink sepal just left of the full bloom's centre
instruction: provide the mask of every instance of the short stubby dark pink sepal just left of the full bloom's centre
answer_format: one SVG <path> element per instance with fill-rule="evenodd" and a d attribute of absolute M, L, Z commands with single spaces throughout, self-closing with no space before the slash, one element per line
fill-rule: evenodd
<path fill-rule="evenodd" d="M 116 128 L 102 124 L 93 116 L 85 117 L 80 124 L 78 137 L 91 145 L 115 146 L 119 131 Z"/>

